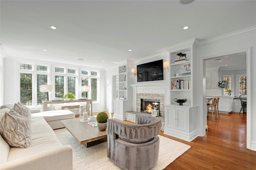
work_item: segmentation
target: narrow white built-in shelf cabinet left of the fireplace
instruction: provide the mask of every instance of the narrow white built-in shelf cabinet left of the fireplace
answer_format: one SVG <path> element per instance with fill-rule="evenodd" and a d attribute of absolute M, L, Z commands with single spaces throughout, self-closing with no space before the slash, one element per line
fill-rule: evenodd
<path fill-rule="evenodd" d="M 132 111 L 131 61 L 126 60 L 118 66 L 118 99 L 114 100 L 114 118 L 125 120 L 125 112 Z"/>

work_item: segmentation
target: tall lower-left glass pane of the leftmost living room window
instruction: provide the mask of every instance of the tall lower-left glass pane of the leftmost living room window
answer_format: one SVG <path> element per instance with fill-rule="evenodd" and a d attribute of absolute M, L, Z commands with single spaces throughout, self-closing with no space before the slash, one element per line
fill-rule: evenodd
<path fill-rule="evenodd" d="M 20 73 L 20 103 L 32 105 L 32 74 Z"/>

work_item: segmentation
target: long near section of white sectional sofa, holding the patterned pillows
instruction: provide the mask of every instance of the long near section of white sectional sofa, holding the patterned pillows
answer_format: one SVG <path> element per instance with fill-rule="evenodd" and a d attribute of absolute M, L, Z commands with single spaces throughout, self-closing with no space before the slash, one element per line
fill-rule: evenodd
<path fill-rule="evenodd" d="M 0 109 L 1 119 L 4 113 L 12 109 L 12 105 L 6 107 Z M 28 148 L 10 147 L 2 135 L 0 136 L 1 170 L 72 170 L 72 147 L 61 144 L 46 122 L 46 117 L 51 120 L 42 113 L 32 114 L 32 141 Z"/>

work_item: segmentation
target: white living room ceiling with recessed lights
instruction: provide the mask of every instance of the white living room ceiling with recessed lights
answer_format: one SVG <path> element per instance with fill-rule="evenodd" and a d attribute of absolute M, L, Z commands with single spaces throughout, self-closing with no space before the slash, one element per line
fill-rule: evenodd
<path fill-rule="evenodd" d="M 255 0 L 1 0 L 0 10 L 8 56 L 98 68 L 256 25 Z"/>

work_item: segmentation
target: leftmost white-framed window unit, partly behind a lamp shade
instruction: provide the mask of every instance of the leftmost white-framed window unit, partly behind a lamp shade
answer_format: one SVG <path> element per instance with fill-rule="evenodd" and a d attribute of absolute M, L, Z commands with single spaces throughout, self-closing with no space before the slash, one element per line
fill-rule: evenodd
<path fill-rule="evenodd" d="M 47 100 L 47 92 L 40 92 L 40 85 L 48 83 L 48 65 L 19 63 L 20 103 L 26 106 L 42 105 Z"/>

